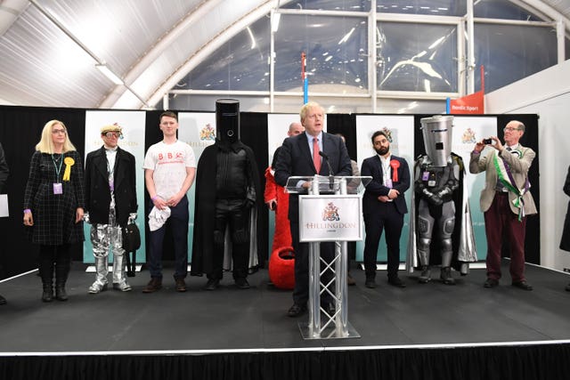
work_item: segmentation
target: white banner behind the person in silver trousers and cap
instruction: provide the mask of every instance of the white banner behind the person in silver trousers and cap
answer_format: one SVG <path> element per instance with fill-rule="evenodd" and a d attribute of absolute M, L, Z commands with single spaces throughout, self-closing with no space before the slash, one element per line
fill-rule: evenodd
<path fill-rule="evenodd" d="M 101 128 L 104 125 L 117 123 L 123 128 L 123 138 L 118 141 L 118 146 L 131 153 L 136 160 L 136 202 L 139 206 L 137 211 L 136 225 L 141 231 L 141 247 L 136 251 L 136 262 L 144 263 L 146 248 L 144 239 L 145 205 L 144 205 L 144 130 L 146 123 L 145 111 L 114 111 L 114 110 L 88 110 L 85 112 L 85 158 L 87 153 L 102 147 Z M 157 127 L 159 121 L 157 120 Z M 85 166 L 84 158 L 84 166 Z M 84 263 L 94 263 L 93 247 L 91 245 L 91 225 L 85 223 L 85 243 L 83 245 Z"/>

